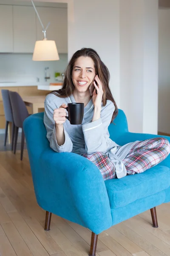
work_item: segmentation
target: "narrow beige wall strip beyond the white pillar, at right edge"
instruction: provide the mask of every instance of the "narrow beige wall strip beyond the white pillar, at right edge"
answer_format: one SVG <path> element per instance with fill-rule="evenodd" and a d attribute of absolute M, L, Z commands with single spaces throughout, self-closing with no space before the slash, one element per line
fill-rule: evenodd
<path fill-rule="evenodd" d="M 158 131 L 170 134 L 170 9 L 159 10 Z"/>

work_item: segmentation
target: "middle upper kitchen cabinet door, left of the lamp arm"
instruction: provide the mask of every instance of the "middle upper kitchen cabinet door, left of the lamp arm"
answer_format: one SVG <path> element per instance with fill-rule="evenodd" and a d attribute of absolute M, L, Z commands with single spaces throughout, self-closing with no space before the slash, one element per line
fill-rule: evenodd
<path fill-rule="evenodd" d="M 36 41 L 33 6 L 13 6 L 14 52 L 32 53 Z"/>

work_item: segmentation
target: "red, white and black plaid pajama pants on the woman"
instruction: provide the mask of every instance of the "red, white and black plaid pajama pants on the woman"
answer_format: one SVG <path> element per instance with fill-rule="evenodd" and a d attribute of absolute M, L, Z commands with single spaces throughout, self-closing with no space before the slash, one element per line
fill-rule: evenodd
<path fill-rule="evenodd" d="M 164 160 L 170 153 L 170 143 L 166 138 L 158 137 L 137 142 L 122 163 L 127 175 L 141 173 Z M 100 170 L 104 180 L 116 178 L 116 170 L 108 155 L 102 152 L 82 154 Z"/>

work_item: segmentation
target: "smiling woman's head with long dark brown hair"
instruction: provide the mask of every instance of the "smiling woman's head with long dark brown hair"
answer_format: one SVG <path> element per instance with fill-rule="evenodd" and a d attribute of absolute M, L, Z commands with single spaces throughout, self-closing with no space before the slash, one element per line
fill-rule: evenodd
<path fill-rule="evenodd" d="M 75 52 L 68 63 L 64 77 L 62 89 L 52 91 L 51 93 L 60 98 L 73 95 L 76 102 L 83 102 L 85 106 L 91 98 L 93 103 L 95 103 L 97 98 L 98 104 L 100 98 L 103 106 L 106 105 L 107 100 L 110 100 L 115 107 L 111 119 L 111 122 L 113 121 L 117 116 L 118 109 L 109 87 L 110 74 L 108 68 L 94 49 L 82 48 Z M 94 88 L 96 88 L 93 91 L 93 95 L 89 91 L 92 82 Z M 99 92 L 100 95 L 97 97 Z"/>

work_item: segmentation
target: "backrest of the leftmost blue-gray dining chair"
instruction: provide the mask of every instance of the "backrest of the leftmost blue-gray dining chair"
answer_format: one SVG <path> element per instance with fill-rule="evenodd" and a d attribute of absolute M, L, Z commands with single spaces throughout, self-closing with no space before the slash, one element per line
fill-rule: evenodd
<path fill-rule="evenodd" d="M 9 90 L 1 90 L 3 96 L 3 108 L 5 113 L 6 121 L 13 122 L 11 102 L 9 99 Z"/>

